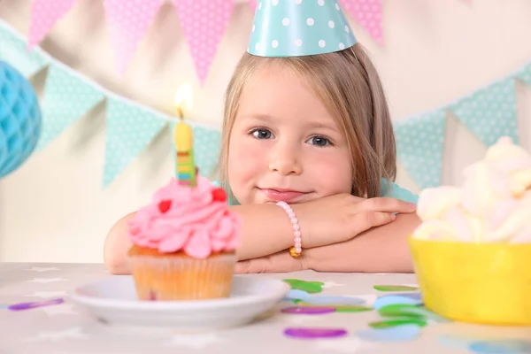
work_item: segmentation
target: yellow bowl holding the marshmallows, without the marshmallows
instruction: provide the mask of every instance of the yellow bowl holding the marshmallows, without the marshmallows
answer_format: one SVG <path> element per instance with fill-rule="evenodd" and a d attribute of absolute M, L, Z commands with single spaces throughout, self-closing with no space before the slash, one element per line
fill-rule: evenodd
<path fill-rule="evenodd" d="M 531 325 L 531 244 L 409 243 L 429 310 L 465 322 Z"/>

